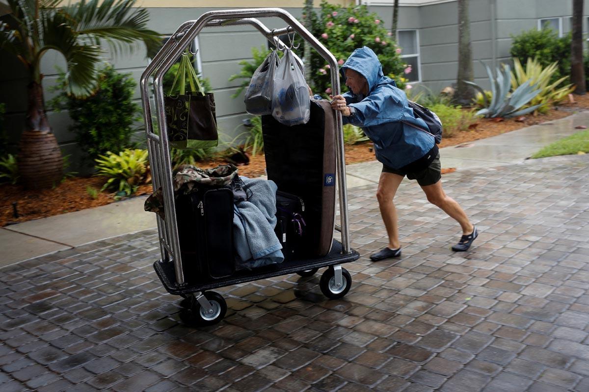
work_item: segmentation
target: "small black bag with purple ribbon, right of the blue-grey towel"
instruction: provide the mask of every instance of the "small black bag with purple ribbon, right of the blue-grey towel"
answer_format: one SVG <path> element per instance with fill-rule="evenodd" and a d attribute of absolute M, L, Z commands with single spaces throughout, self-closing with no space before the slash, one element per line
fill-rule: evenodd
<path fill-rule="evenodd" d="M 274 232 L 282 245 L 284 260 L 303 254 L 305 230 L 305 202 L 299 196 L 276 191 L 276 227 Z"/>

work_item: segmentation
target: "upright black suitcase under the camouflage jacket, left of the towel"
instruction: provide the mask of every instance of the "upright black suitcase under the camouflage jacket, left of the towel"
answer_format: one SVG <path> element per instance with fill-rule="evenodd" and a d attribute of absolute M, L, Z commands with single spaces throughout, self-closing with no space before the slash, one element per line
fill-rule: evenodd
<path fill-rule="evenodd" d="M 230 187 L 179 195 L 176 219 L 186 282 L 207 282 L 234 273 Z"/>

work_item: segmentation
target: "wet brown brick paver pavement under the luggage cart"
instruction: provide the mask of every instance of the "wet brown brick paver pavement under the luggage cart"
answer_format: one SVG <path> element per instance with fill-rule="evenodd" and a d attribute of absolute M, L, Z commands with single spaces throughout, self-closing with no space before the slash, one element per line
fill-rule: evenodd
<path fill-rule="evenodd" d="M 458 226 L 403 183 L 403 257 L 369 262 L 385 230 L 375 186 L 353 189 L 362 257 L 345 265 L 344 299 L 326 300 L 319 274 L 226 287 L 226 318 L 200 330 L 153 272 L 153 231 L 6 267 L 0 390 L 586 392 L 585 157 L 446 176 L 481 229 L 469 253 L 449 250 Z"/>

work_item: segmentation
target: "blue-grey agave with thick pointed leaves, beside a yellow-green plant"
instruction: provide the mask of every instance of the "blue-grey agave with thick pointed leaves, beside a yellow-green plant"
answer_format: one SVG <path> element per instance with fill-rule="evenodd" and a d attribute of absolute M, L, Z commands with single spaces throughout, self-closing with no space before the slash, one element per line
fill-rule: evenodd
<path fill-rule="evenodd" d="M 481 92 L 485 100 L 485 108 L 479 110 L 476 113 L 477 115 L 482 115 L 486 118 L 514 117 L 525 115 L 540 107 L 540 105 L 532 105 L 528 108 L 521 109 L 540 93 L 540 90 L 530 80 L 525 81 L 517 89 L 509 93 L 511 86 L 511 67 L 509 65 L 501 64 L 501 68 L 497 69 L 497 79 L 493 78 L 491 69 L 487 65 L 485 65 L 485 68 L 487 69 L 487 75 L 491 82 L 492 98 L 490 103 L 481 86 L 474 82 L 465 81 Z"/>

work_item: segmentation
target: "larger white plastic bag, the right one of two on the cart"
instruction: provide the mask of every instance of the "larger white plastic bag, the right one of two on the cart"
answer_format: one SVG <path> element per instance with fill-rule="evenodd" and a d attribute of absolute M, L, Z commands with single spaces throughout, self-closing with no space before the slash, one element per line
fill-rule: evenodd
<path fill-rule="evenodd" d="M 272 116 L 279 123 L 305 124 L 311 115 L 309 88 L 305 74 L 290 49 L 284 50 L 274 76 Z"/>

